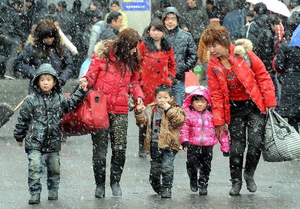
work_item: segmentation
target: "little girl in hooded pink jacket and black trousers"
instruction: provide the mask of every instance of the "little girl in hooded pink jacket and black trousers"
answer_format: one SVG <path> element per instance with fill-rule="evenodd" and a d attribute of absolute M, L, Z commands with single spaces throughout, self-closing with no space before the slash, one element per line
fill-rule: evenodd
<path fill-rule="evenodd" d="M 185 98 L 182 107 L 186 111 L 186 116 L 184 125 L 180 127 L 180 143 L 183 150 L 187 151 L 186 169 L 190 189 L 192 191 L 199 189 L 200 195 L 206 195 L 212 146 L 218 141 L 212 122 L 209 90 L 199 86 Z M 227 132 L 223 132 L 219 142 L 223 155 L 229 156 L 230 142 Z M 198 179 L 197 172 L 199 172 Z"/>

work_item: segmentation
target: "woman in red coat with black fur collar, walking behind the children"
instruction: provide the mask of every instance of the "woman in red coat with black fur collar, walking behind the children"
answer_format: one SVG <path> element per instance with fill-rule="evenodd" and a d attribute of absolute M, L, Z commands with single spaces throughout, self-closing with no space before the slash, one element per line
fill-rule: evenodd
<path fill-rule="evenodd" d="M 145 95 L 145 105 L 154 101 L 154 92 L 158 85 L 172 86 L 172 80 L 176 74 L 173 48 L 163 37 L 164 31 L 165 27 L 161 21 L 152 21 L 146 30 L 145 38 L 138 45 L 142 66 L 140 87 Z M 145 127 L 140 127 L 138 137 L 140 157 L 146 157 L 146 150 L 143 146 L 145 133 Z"/>

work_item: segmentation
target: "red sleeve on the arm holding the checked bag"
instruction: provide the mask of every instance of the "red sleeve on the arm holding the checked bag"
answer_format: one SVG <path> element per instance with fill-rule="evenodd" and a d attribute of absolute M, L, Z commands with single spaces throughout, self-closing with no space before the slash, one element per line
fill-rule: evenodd
<path fill-rule="evenodd" d="M 264 64 L 253 51 L 248 51 L 252 70 L 263 95 L 264 106 L 276 106 L 275 87 L 270 74 L 266 71 Z"/>

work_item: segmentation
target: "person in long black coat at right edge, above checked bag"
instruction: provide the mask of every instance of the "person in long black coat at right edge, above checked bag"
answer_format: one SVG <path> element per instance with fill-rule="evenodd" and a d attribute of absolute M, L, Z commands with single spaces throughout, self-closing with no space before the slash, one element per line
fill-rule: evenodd
<path fill-rule="evenodd" d="M 288 118 L 288 123 L 298 131 L 300 123 L 300 47 L 291 46 L 290 37 L 300 24 L 300 12 L 293 12 L 287 19 L 286 39 L 274 58 L 275 70 L 281 74 L 281 97 L 278 113 Z"/>

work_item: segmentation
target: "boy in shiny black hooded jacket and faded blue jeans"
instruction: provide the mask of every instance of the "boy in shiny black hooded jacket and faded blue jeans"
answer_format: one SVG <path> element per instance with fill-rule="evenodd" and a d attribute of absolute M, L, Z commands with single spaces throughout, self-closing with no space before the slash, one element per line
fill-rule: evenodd
<path fill-rule="evenodd" d="M 85 96 L 86 84 L 81 84 L 79 89 L 65 98 L 61 94 L 58 75 L 51 64 L 41 64 L 32 79 L 33 93 L 24 100 L 13 132 L 19 146 L 22 146 L 25 139 L 25 151 L 29 160 L 29 204 L 40 202 L 43 155 L 46 156 L 48 171 L 48 199 L 58 199 L 58 152 L 61 148 L 59 125 L 63 115 L 75 108 Z"/>

